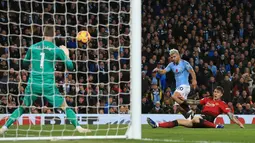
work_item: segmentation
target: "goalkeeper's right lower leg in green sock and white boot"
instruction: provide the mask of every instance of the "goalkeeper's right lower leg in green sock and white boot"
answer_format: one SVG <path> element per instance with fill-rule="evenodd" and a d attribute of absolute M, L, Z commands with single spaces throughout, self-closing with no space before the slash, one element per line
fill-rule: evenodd
<path fill-rule="evenodd" d="M 91 132 L 89 129 L 84 129 L 79 125 L 76 118 L 76 114 L 74 113 L 72 109 L 68 108 L 68 105 L 65 100 L 63 101 L 63 104 L 61 105 L 61 109 L 65 111 L 67 119 L 75 126 L 76 130 L 79 133 Z"/>

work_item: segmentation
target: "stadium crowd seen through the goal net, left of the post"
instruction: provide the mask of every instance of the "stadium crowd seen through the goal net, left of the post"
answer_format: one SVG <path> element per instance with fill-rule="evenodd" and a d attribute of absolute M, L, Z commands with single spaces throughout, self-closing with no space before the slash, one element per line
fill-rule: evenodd
<path fill-rule="evenodd" d="M 56 65 L 56 84 L 67 104 L 76 113 L 129 112 L 129 1 L 110 5 L 107 1 L 1 1 L 0 9 L 1 113 L 12 113 L 21 105 L 30 69 L 22 59 L 31 44 L 43 40 L 46 24 L 56 25 L 55 43 L 70 49 L 76 65 L 66 73 L 63 63 Z M 88 45 L 76 43 L 81 30 L 92 36 Z M 61 112 L 41 99 L 30 112 Z"/>

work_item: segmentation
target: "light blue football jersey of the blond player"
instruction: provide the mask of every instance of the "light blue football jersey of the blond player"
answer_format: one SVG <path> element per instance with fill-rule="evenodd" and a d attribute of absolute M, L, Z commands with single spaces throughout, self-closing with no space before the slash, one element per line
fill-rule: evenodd
<path fill-rule="evenodd" d="M 189 62 L 185 60 L 181 60 L 179 64 L 174 64 L 173 62 L 169 63 L 165 68 L 166 72 L 173 71 L 175 80 L 176 80 L 176 88 L 180 85 L 188 85 L 189 86 L 189 70 L 193 69 Z"/>

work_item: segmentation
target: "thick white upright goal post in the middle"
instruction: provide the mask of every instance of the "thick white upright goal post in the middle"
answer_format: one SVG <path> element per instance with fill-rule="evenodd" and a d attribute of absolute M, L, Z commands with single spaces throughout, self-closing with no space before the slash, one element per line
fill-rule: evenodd
<path fill-rule="evenodd" d="M 131 127 L 128 138 L 141 139 L 142 4 L 131 0 Z M 138 95 L 138 96 L 136 96 Z"/>

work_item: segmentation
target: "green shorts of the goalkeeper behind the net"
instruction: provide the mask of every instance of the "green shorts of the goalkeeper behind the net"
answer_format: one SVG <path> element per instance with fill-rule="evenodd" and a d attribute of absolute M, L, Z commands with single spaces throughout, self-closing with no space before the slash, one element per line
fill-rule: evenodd
<path fill-rule="evenodd" d="M 53 107 L 61 107 L 64 101 L 63 95 L 60 94 L 57 86 L 42 86 L 39 84 L 29 84 L 25 89 L 25 96 L 23 99 L 23 103 L 26 106 L 33 105 L 34 101 L 38 97 L 43 97 L 46 99 Z M 43 100 L 42 98 L 42 100 Z"/>

